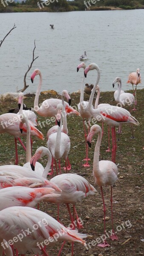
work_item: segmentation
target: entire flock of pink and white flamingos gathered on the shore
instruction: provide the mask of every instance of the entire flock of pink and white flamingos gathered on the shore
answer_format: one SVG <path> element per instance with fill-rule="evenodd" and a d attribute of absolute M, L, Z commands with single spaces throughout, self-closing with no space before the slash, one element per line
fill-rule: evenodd
<path fill-rule="evenodd" d="M 80 219 L 75 208 L 75 204 L 81 201 L 88 195 L 94 195 L 96 189 L 84 177 L 72 174 L 71 164 L 68 159 L 70 150 L 70 138 L 68 136 L 68 128 L 66 122 L 67 114 L 76 114 L 90 122 L 93 117 L 102 125 L 106 123 L 112 129 L 112 161 L 99 161 L 100 145 L 102 140 L 102 129 L 99 125 L 92 125 L 88 135 L 86 135 L 86 127 L 84 122 L 84 132 L 86 141 L 86 163 L 84 166 L 89 166 L 88 147 L 91 147 L 92 137 L 98 134 L 98 140 L 95 145 L 93 158 L 93 177 L 95 184 L 101 187 L 101 195 L 104 205 L 104 233 L 106 229 L 105 216 L 106 207 L 104 204 L 104 195 L 102 186 L 111 186 L 111 212 L 112 212 L 112 186 L 115 184 L 118 177 L 118 168 L 115 164 L 116 157 L 116 137 L 115 127 L 130 124 L 139 125 L 138 121 L 127 111 L 124 106 L 136 105 L 136 87 L 133 94 L 125 93 L 121 90 L 121 79 L 117 77 L 113 81 L 113 87 L 118 83 L 118 90 L 115 91 L 115 100 L 120 106 L 112 106 L 109 104 L 99 104 L 100 87 L 98 82 L 100 79 L 100 69 L 97 64 L 92 63 L 88 67 L 82 62 L 77 67 L 77 72 L 80 68 L 84 69 L 84 77 L 81 84 L 81 97 L 78 104 L 78 111 L 70 106 L 70 96 L 66 90 L 62 91 L 61 99 L 46 99 L 40 105 L 38 99 L 42 85 L 42 75 L 40 70 L 34 70 L 31 81 L 33 83 L 35 76 L 39 75 L 39 85 L 35 96 L 34 110 L 40 116 L 55 116 L 56 125 L 53 126 L 47 133 L 47 148 L 37 148 L 32 157 L 32 139 L 31 136 L 37 136 L 44 140 L 43 134 L 36 128 L 36 114 L 27 110 L 23 104 L 23 93 L 19 93 L 18 113 L 5 113 L 0 116 L 0 134 L 8 133 L 14 136 L 15 141 L 15 165 L 0 166 L 0 256 L 24 256 L 26 252 L 31 252 L 35 256 L 48 256 L 46 247 L 50 247 L 58 241 L 63 241 L 62 247 L 58 253 L 60 256 L 66 241 L 72 242 L 72 256 L 74 255 L 74 242 L 85 244 L 84 238 L 86 234 L 79 233 L 82 228 Z M 97 71 L 95 85 L 92 89 L 89 102 L 84 101 L 84 79 L 90 70 Z M 137 85 L 141 82 L 140 70 L 130 73 L 128 83 Z M 95 101 L 95 108 L 92 105 L 95 90 L 98 90 Z M 67 102 L 64 101 L 67 100 Z M 26 147 L 20 137 L 26 137 Z M 26 163 L 23 166 L 18 166 L 17 140 L 26 150 Z M 45 169 L 37 162 L 43 156 L 48 157 Z M 60 159 L 65 160 L 65 173 L 61 173 Z M 58 166 L 57 166 L 58 160 Z M 55 169 L 54 170 L 54 163 Z M 50 171 L 51 168 L 51 171 Z M 54 177 L 52 177 L 55 174 Z M 51 176 L 51 179 L 47 177 Z M 35 206 L 41 201 L 55 203 L 58 205 L 58 220 L 55 220 L 45 212 L 35 209 Z M 72 228 L 66 228 L 59 220 L 59 204 L 64 203 L 69 212 L 70 223 Z M 71 213 L 69 204 L 73 206 Z M 76 220 L 75 220 L 76 219 Z M 113 227 L 112 216 L 112 236 L 113 240 L 118 237 L 115 234 Z M 100 247 L 107 247 L 109 244 L 106 239 L 103 243 L 98 244 Z"/>

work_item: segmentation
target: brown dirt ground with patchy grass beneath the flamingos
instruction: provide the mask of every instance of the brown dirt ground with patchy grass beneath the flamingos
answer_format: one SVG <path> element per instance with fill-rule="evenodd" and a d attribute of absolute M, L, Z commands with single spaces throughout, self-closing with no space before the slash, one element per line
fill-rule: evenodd
<path fill-rule="evenodd" d="M 132 91 L 130 91 L 132 92 Z M 134 127 L 135 139 L 131 139 L 130 125 L 123 125 L 120 141 L 117 142 L 118 148 L 116 153 L 116 164 L 118 165 L 118 180 L 113 188 L 113 218 L 114 227 L 117 232 L 118 240 L 112 241 L 107 238 L 109 247 L 98 247 L 98 240 L 104 234 L 104 215 L 103 203 L 101 197 L 100 187 L 94 185 L 92 176 L 92 163 L 95 143 L 97 135 L 93 137 L 92 148 L 89 149 L 89 157 L 91 158 L 90 167 L 84 168 L 82 166 L 82 159 L 85 157 L 85 140 L 81 117 L 68 116 L 69 137 L 71 140 L 71 149 L 69 152 L 69 160 L 72 164 L 70 172 L 82 175 L 89 183 L 97 189 L 97 193 L 93 196 L 86 197 L 83 201 L 76 205 L 79 217 L 83 221 L 84 228 L 80 230 L 81 233 L 86 233 L 87 247 L 82 244 L 75 243 L 74 255 L 76 256 L 136 256 L 144 255 L 144 116 L 143 114 L 143 96 L 144 90 L 137 90 L 138 104 L 137 110 L 132 111 L 132 116 L 140 123 L 139 126 Z M 39 102 L 43 99 L 52 97 L 49 95 L 41 95 Z M 58 96 L 60 97 L 60 96 Z M 80 95 L 72 94 L 72 106 L 76 106 L 79 102 Z M 85 100 L 89 96 L 85 95 Z M 25 103 L 30 107 L 33 105 L 34 96 L 28 95 Z M 99 103 L 107 102 L 111 105 L 116 105 L 113 98 L 113 92 L 101 93 Z M 0 104 L 0 114 L 5 113 L 9 108 L 16 107 L 14 102 L 4 102 Z M 42 122 L 45 118 L 37 115 L 38 121 Z M 33 138 L 33 154 L 38 146 L 46 146 L 46 133 L 52 125 L 45 125 L 40 128 L 45 136 L 44 141 Z M 91 122 L 92 125 L 92 122 Z M 101 124 L 100 124 L 101 125 Z M 118 131 L 118 129 L 117 129 Z M 26 141 L 25 138 L 23 141 Z M 111 142 L 112 144 L 112 142 Z M 101 142 L 100 160 L 111 160 L 111 152 L 106 152 L 108 146 L 107 125 L 104 125 L 104 137 Z M 25 163 L 25 152 L 18 146 L 19 164 Z M 43 166 L 46 165 L 46 158 L 40 161 Z M 0 165 L 14 164 L 14 139 L 8 134 L 0 135 Z M 64 161 L 62 161 L 64 166 Z M 64 171 L 63 171 L 64 173 Z M 110 211 L 110 187 L 103 188 L 104 199 L 106 204 L 106 221 L 107 234 L 109 234 L 111 224 Z M 72 209 L 72 208 L 71 208 Z M 43 203 L 40 205 L 40 210 L 48 213 L 54 218 L 57 218 L 57 207 L 55 204 Z M 60 221 L 65 225 L 70 224 L 69 215 L 65 205 L 60 205 Z M 88 244 L 92 243 L 92 244 Z M 49 256 L 57 256 L 58 250 L 62 243 L 56 244 L 54 247 L 48 248 Z M 31 255 L 32 254 L 26 254 Z M 71 244 L 66 243 L 61 253 L 62 256 L 71 256 Z"/>

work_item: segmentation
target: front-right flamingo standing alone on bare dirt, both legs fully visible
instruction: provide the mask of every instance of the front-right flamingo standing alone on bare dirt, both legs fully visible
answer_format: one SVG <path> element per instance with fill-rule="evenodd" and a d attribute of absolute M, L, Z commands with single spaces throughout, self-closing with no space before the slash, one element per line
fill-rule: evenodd
<path fill-rule="evenodd" d="M 102 131 L 99 125 L 92 125 L 90 128 L 89 135 L 87 137 L 87 142 L 89 147 L 91 147 L 92 137 L 98 133 L 98 140 L 95 145 L 95 152 L 93 157 L 93 176 L 95 179 L 95 184 L 101 187 L 101 195 L 103 199 L 103 206 L 104 206 L 104 234 L 106 234 L 106 227 L 105 227 L 105 217 L 106 217 L 106 207 L 104 204 L 104 195 L 102 186 L 109 185 L 111 186 L 111 212 L 112 212 L 112 186 L 114 185 L 115 181 L 118 178 L 118 168 L 115 163 L 108 160 L 99 161 L 99 154 L 100 154 L 100 145 L 101 145 L 101 138 L 102 138 Z M 114 227 L 113 227 L 113 215 L 112 215 L 112 236 L 110 238 L 113 240 L 118 240 L 118 237 L 115 234 Z M 109 244 L 106 240 L 102 244 L 98 244 L 100 247 L 107 247 Z"/>

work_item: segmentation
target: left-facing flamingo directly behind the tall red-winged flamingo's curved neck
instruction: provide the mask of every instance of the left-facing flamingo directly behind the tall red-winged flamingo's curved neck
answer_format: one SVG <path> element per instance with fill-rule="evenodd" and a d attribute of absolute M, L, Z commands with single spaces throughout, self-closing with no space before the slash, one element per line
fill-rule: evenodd
<path fill-rule="evenodd" d="M 82 62 L 81 64 L 78 65 L 77 67 L 77 72 L 79 71 L 80 68 L 83 68 L 85 70 L 86 64 Z M 85 143 L 86 143 L 86 127 L 85 127 L 85 119 L 88 119 L 88 123 L 90 122 L 90 119 L 92 117 L 92 114 L 89 112 L 88 109 L 88 104 L 89 102 L 84 101 L 84 76 L 81 82 L 81 96 L 80 96 L 80 103 L 78 104 L 78 111 L 81 114 L 81 117 L 83 119 L 83 124 L 84 124 L 84 136 L 85 136 Z M 89 134 L 89 127 L 88 127 L 88 134 Z M 88 145 L 86 143 L 86 158 L 84 159 L 86 163 L 83 164 L 84 167 L 89 167 L 88 161 L 90 160 L 88 157 Z"/>

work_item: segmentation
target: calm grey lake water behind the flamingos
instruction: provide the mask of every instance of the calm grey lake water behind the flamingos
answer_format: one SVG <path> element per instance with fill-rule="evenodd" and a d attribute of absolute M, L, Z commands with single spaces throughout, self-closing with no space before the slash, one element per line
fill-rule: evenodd
<path fill-rule="evenodd" d="M 16 92 L 23 88 L 23 77 L 32 61 L 34 40 L 36 44 L 32 69 L 27 75 L 29 88 L 25 93 L 36 92 L 39 77 L 34 84 L 30 76 L 39 68 L 43 76 L 41 90 L 66 89 L 70 93 L 81 87 L 83 70 L 77 73 L 79 57 L 86 50 L 89 60 L 101 70 L 101 91 L 115 90 L 112 81 L 122 79 L 123 90 L 130 72 L 139 67 L 144 81 L 144 9 L 84 12 L 0 13 L 0 40 L 16 24 L 17 28 L 0 47 L 0 94 Z M 54 24 L 51 29 L 49 24 Z M 96 71 L 88 73 L 86 83 L 94 83 Z"/>

